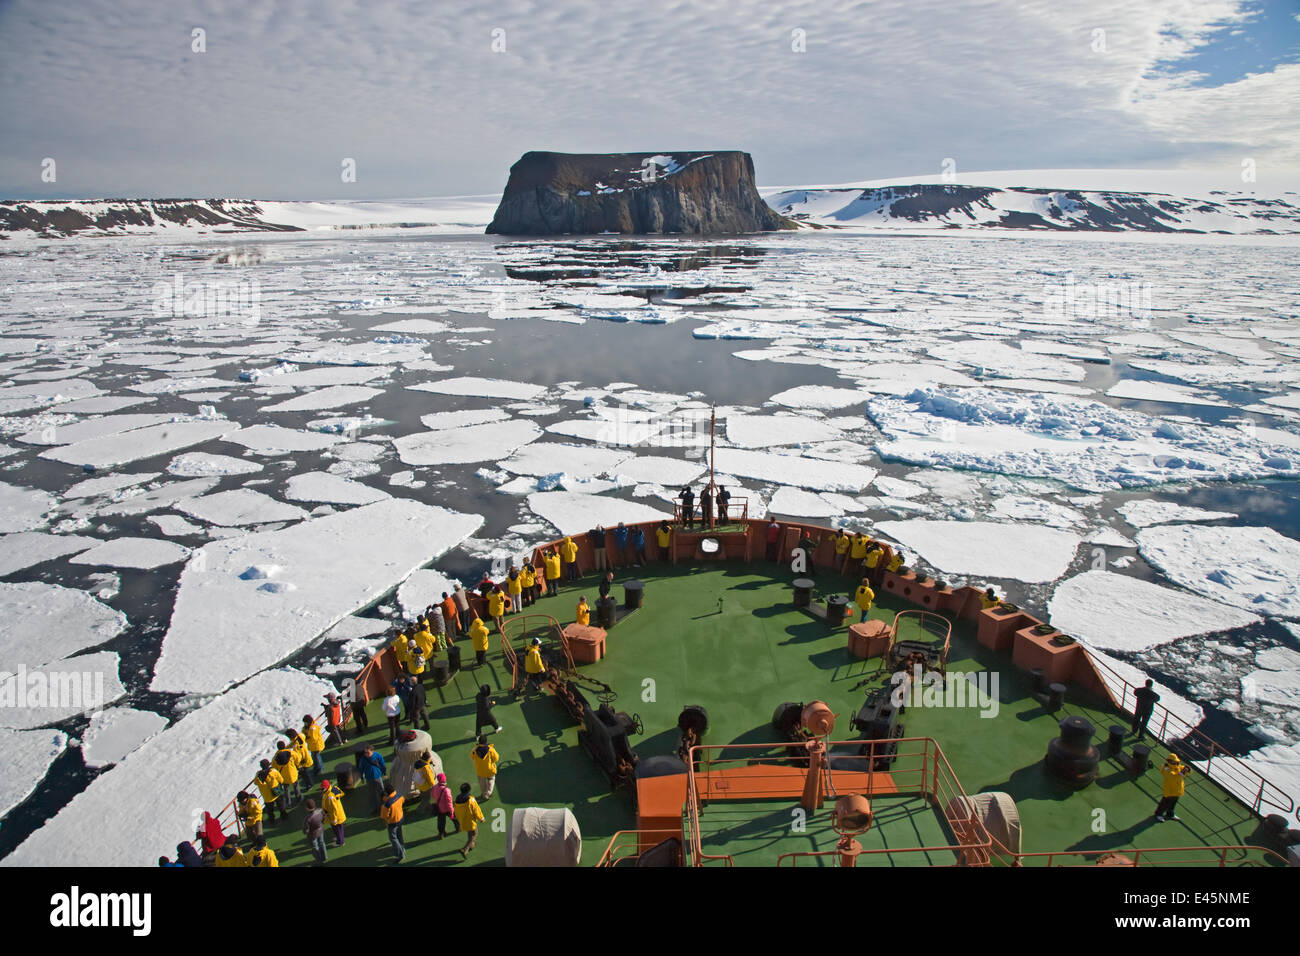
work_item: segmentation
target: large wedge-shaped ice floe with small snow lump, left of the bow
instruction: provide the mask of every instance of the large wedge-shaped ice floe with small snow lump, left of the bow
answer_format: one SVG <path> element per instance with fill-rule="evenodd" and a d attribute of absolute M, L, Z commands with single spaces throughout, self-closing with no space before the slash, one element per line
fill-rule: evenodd
<path fill-rule="evenodd" d="M 480 524 L 480 515 L 393 498 L 209 542 L 181 574 L 152 688 L 216 692 L 272 666 Z M 264 564 L 282 571 L 269 581 L 243 578 Z"/>

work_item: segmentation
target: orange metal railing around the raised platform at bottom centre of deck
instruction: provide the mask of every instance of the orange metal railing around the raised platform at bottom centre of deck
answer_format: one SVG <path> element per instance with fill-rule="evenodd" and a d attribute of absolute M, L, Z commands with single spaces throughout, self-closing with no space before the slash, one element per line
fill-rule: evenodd
<path fill-rule="evenodd" d="M 805 773 L 788 748 L 780 744 L 698 744 L 690 748 L 686 761 L 686 817 L 685 838 L 690 847 L 693 865 L 724 862 L 734 866 L 729 853 L 706 853 L 699 826 L 701 804 L 716 800 L 788 799 L 802 791 Z M 894 740 L 840 740 L 826 741 L 829 762 L 822 774 L 822 788 L 828 800 L 842 796 L 837 786 L 846 783 L 849 792 L 862 793 L 868 800 L 878 792 L 892 796 L 918 795 L 940 808 L 954 842 L 945 845 L 910 847 L 871 851 L 872 853 L 949 852 L 959 865 L 987 866 L 992 856 L 992 838 L 974 813 L 957 774 L 932 737 L 898 737 Z M 836 748 L 853 748 L 852 754 L 836 753 Z M 866 747 L 867 753 L 859 753 Z M 889 754 L 889 770 L 875 770 L 876 758 Z M 850 763 L 849 770 L 844 765 Z M 698 769 L 697 769 L 698 766 Z M 741 773 L 736 773 L 744 767 Z M 772 767 L 793 767 L 798 773 L 779 774 L 774 779 Z M 861 767 L 861 769 L 857 769 Z M 715 779 L 716 778 L 716 779 Z M 784 780 L 781 779 L 784 778 Z M 818 856 L 819 853 L 786 853 L 779 857 Z M 777 861 L 777 862 L 779 862 Z"/>

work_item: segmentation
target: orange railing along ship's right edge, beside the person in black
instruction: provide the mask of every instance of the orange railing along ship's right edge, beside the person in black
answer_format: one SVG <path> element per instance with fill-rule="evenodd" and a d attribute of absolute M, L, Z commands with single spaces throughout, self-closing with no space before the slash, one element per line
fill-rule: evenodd
<path fill-rule="evenodd" d="M 1093 654 L 1088 654 L 1088 659 L 1106 685 L 1114 705 L 1131 714 L 1138 700 L 1134 696 L 1136 685 Z M 1265 806 L 1287 814 L 1296 812 L 1296 803 L 1290 793 L 1167 708 L 1156 705 L 1148 731 L 1171 750 L 1176 749 L 1179 756 L 1190 761 L 1204 761 L 1200 770 L 1254 813 L 1264 813 Z"/>

